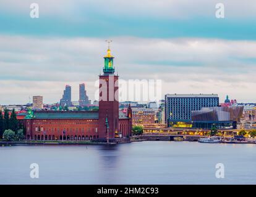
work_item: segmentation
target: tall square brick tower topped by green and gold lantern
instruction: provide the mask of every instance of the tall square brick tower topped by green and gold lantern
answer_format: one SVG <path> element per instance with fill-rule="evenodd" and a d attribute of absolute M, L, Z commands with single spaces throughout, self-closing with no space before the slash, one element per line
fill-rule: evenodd
<path fill-rule="evenodd" d="M 114 74 L 111 50 L 104 57 L 105 66 L 100 77 L 99 138 L 114 139 L 119 133 L 118 76 Z"/>

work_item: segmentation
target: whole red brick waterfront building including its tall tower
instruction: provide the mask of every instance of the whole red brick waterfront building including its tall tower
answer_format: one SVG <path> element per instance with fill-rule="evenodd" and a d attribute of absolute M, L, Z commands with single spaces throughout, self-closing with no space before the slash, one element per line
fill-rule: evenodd
<path fill-rule="evenodd" d="M 130 137 L 132 110 L 119 111 L 118 76 L 114 74 L 110 49 L 100 77 L 98 111 L 28 111 L 27 140 L 101 140 Z M 114 97 L 117 95 L 117 98 Z"/>

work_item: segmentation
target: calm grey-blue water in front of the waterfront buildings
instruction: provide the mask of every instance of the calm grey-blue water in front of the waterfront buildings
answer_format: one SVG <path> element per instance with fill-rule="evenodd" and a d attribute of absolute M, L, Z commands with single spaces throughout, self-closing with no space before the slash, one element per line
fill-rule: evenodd
<path fill-rule="evenodd" d="M 255 184 L 256 145 L 136 142 L 0 147 L 1 184 Z M 30 164 L 39 164 L 39 179 Z M 223 163 L 224 179 L 215 165 Z"/>

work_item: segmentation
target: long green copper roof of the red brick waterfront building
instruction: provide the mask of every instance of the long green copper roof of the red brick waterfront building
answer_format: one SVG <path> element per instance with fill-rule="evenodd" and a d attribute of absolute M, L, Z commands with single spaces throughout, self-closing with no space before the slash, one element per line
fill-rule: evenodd
<path fill-rule="evenodd" d="M 34 111 L 33 119 L 98 119 L 98 111 Z"/>

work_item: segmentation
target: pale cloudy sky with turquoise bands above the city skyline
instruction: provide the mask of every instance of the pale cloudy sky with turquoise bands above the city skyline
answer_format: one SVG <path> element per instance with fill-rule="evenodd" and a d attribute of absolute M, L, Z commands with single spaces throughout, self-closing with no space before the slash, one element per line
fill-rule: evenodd
<path fill-rule="evenodd" d="M 30 4 L 39 18 L 30 17 Z M 216 18 L 216 4 L 224 18 Z M 111 39 L 119 78 L 161 79 L 161 94 L 218 94 L 256 102 L 256 1 L 1 0 L 0 105 L 33 95 L 89 99 Z"/>

